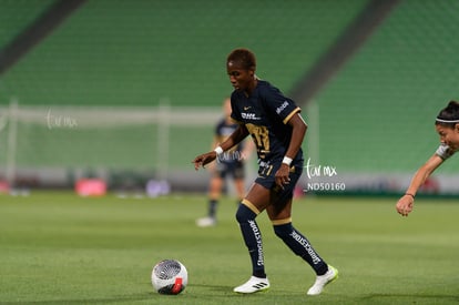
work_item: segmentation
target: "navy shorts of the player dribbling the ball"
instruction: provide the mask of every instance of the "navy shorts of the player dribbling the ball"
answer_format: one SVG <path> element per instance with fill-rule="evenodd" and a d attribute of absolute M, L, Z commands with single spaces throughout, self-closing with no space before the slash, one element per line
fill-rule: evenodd
<path fill-rule="evenodd" d="M 275 174 L 280 167 L 282 161 L 271 163 L 271 162 L 259 162 L 258 177 L 255 180 L 255 183 L 272 190 L 275 195 L 275 202 L 285 203 L 293 197 L 296 183 L 303 173 L 303 160 L 294 161 L 290 165 L 290 183 L 284 184 L 284 189 L 276 184 Z"/>

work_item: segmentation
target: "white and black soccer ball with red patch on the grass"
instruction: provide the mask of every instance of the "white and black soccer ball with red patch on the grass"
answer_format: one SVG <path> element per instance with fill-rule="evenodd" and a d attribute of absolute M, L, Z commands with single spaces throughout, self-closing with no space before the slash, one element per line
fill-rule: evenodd
<path fill-rule="evenodd" d="M 188 284 L 185 266 L 176 260 L 159 262 L 152 271 L 153 288 L 160 294 L 180 294 Z"/>

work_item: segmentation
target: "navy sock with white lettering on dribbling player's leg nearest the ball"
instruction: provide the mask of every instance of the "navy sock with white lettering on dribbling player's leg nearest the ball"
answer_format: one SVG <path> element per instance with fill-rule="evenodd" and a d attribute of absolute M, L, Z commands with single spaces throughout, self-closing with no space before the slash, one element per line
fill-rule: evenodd
<path fill-rule="evenodd" d="M 263 256 L 262 232 L 255 222 L 256 213 L 244 204 L 239 204 L 236 220 L 252 260 L 252 275 L 266 277 L 265 262 Z"/>

